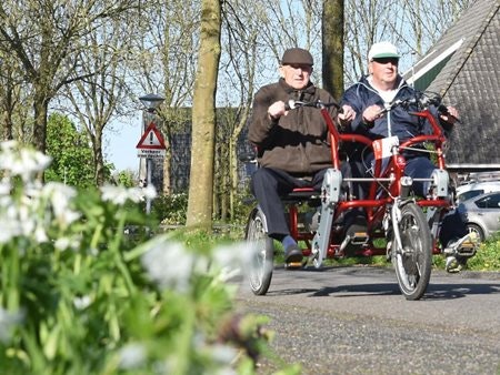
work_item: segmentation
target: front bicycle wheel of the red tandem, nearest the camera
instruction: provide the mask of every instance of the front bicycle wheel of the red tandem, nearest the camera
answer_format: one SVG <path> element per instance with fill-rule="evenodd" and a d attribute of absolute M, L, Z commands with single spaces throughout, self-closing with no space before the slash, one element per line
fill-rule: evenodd
<path fill-rule="evenodd" d="M 398 251 L 392 239 L 392 262 L 399 288 L 407 300 L 419 300 L 429 285 L 432 236 L 422 210 L 412 202 L 401 207 L 398 226 L 402 249 Z"/>

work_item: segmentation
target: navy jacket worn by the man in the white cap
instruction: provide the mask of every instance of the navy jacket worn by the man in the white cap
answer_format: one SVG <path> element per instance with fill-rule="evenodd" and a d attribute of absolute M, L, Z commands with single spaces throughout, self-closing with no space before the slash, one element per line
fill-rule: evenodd
<path fill-rule="evenodd" d="M 409 87 L 407 82 L 399 77 L 397 94 L 394 100 L 408 99 L 414 97 L 414 89 Z M 354 133 L 367 135 L 371 139 L 386 138 L 389 135 L 397 135 L 401 141 L 406 141 L 414 135 L 429 134 L 432 129 L 430 124 L 416 115 L 408 113 L 409 111 L 416 111 L 417 108 L 404 109 L 397 107 L 383 116 L 377 119 L 372 124 L 363 123 L 363 111 L 373 104 L 383 108 L 383 99 L 379 95 L 368 82 L 367 77 L 362 77 L 358 83 L 351 85 L 342 95 L 340 104 L 351 105 L 356 111 L 357 116 L 351 122 L 351 131 Z M 430 108 L 432 114 L 438 116 L 436 108 Z M 451 125 L 448 123 L 441 123 L 444 131 L 451 130 Z"/>

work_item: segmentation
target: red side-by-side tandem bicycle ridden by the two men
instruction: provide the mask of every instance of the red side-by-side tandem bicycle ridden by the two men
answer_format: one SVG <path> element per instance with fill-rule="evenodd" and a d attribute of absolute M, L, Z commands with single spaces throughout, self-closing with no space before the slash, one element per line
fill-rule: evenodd
<path fill-rule="evenodd" d="M 383 110 L 389 112 L 402 107 L 430 123 L 430 134 L 417 135 L 401 143 L 396 136 L 373 141 L 364 135 L 339 132 L 327 110 L 329 105 L 337 104 L 289 103 L 290 110 L 299 105 L 321 111 L 330 133 L 332 166 L 324 174 L 321 191 L 296 189 L 282 196 L 290 233 L 302 246 L 304 255 L 303 263 L 288 266 L 321 267 L 327 259 L 384 255 L 393 264 L 404 297 L 419 300 L 429 284 L 432 255 L 444 255 L 448 271 L 452 270 L 458 259 L 474 255 L 477 244 L 472 235 L 466 235 L 452 249 L 443 249 L 438 241 L 441 220 L 453 210 L 453 194 L 443 153 L 446 138 L 429 109 L 434 105 L 446 111 L 439 95 L 417 93 L 406 100 L 397 100 Z M 373 153 L 370 175 L 342 175 L 340 146 L 344 142 L 361 143 Z M 404 150 L 430 153 L 436 162 L 430 179 L 418 179 L 419 182 L 430 183 L 427 196 L 417 196 L 412 192 L 411 186 L 417 179 L 403 173 Z M 367 186 L 364 199 L 353 196 L 350 191 L 356 183 Z M 347 232 L 344 219 L 352 211 L 363 213 L 364 226 Z M 257 295 L 268 292 L 273 272 L 274 244 L 267 232 L 266 216 L 257 205 L 249 215 L 246 229 L 246 240 L 253 249 L 250 287 Z"/>

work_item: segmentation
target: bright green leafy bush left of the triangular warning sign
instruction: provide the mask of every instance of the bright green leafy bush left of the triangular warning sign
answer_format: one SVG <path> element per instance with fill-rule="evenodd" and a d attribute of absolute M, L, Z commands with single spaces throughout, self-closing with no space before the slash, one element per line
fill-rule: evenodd
<path fill-rule="evenodd" d="M 49 116 L 47 154 L 52 163 L 46 171 L 46 181 L 78 188 L 94 185 L 93 153 L 87 134 L 79 132 L 66 115 L 52 113 Z"/>

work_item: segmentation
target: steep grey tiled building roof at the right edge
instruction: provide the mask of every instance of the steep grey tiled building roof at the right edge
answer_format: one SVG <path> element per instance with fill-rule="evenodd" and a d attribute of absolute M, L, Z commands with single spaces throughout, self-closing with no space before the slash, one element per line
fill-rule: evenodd
<path fill-rule="evenodd" d="M 500 170 L 500 0 L 477 0 L 404 78 L 456 107 L 451 170 Z M 414 81 L 414 82 L 413 82 Z"/>

